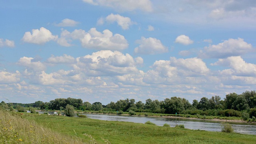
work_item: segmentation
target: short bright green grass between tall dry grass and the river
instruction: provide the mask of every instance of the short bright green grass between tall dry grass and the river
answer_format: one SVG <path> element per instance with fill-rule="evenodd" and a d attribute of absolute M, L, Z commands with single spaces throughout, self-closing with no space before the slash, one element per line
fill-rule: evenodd
<path fill-rule="evenodd" d="M 70 118 L 64 116 L 46 116 L 28 114 L 28 119 L 51 128 L 54 131 L 77 136 L 88 142 L 111 144 L 165 144 L 165 143 L 218 143 L 218 144 L 254 144 L 256 136 L 236 133 L 206 132 L 182 128 L 165 128 L 131 122 L 101 121 L 89 118 Z M 92 136 L 86 136 L 89 134 Z M 94 141 L 95 142 L 95 141 Z"/>

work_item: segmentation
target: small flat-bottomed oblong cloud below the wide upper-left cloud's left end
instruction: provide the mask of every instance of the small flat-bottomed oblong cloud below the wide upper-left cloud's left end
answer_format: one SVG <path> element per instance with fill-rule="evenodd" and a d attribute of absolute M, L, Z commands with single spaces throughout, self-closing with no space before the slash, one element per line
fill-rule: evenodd
<path fill-rule="evenodd" d="M 46 62 L 52 64 L 72 64 L 75 62 L 75 59 L 72 56 L 68 56 L 67 54 L 64 54 L 63 56 L 52 55 L 47 59 Z"/>

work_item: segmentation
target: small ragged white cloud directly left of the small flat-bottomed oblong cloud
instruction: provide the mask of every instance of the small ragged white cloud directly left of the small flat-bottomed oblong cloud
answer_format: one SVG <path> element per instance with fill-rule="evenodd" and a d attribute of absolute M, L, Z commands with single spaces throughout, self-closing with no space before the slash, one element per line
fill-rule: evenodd
<path fill-rule="evenodd" d="M 18 61 L 18 65 L 24 66 L 26 69 L 32 70 L 35 72 L 41 72 L 46 70 L 46 66 L 42 62 L 40 61 L 34 62 L 34 58 L 28 58 L 26 56 L 20 58 L 20 60 Z"/>

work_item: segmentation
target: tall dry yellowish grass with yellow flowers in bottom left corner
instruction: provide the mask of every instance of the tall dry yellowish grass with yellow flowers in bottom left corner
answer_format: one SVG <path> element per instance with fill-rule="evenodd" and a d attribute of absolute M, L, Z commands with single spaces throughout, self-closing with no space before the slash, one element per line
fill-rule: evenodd
<path fill-rule="evenodd" d="M 83 144 L 24 119 L 25 114 L 0 110 L 0 144 Z"/>

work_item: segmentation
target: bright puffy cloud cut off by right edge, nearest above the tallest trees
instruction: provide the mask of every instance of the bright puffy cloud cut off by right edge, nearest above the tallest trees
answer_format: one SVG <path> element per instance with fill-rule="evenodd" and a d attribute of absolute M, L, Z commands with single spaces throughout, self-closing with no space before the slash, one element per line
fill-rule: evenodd
<path fill-rule="evenodd" d="M 241 56 L 231 56 L 225 59 L 219 59 L 211 65 L 230 67 L 230 69 L 222 70 L 222 74 L 226 73 L 226 75 L 256 76 L 256 64 L 246 63 Z"/>

